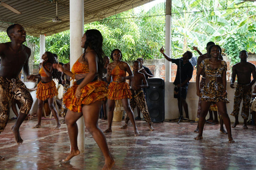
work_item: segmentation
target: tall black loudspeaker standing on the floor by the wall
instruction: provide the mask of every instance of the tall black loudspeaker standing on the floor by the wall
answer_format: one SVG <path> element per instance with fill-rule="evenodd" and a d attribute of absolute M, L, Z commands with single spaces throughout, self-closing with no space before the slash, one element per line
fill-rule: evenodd
<path fill-rule="evenodd" d="M 147 105 L 152 122 L 164 121 L 164 79 L 149 78 L 147 88 Z"/>

